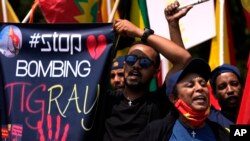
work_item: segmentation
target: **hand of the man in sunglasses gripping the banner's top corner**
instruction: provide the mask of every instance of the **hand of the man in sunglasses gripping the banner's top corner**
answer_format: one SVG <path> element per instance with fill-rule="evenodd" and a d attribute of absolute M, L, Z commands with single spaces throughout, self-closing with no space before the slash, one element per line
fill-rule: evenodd
<path fill-rule="evenodd" d="M 122 36 L 141 37 L 143 30 L 128 20 L 117 19 L 113 25 L 114 30 Z"/>

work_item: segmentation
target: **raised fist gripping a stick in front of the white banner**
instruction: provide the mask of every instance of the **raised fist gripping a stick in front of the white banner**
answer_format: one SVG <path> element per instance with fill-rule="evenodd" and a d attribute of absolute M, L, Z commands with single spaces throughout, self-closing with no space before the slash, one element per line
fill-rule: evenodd
<path fill-rule="evenodd" d="M 174 3 L 167 5 L 167 7 L 164 9 L 165 18 L 167 19 L 168 23 L 178 22 L 179 19 L 185 16 L 187 12 L 193 7 L 192 5 L 189 5 L 178 10 L 179 6 L 180 3 L 175 1 Z"/>

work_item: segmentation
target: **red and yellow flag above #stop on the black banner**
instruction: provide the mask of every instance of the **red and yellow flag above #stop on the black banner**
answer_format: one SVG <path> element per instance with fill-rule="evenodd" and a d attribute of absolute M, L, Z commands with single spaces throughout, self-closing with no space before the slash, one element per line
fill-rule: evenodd
<path fill-rule="evenodd" d="M 98 0 L 39 0 L 47 23 L 87 23 L 97 21 Z"/>

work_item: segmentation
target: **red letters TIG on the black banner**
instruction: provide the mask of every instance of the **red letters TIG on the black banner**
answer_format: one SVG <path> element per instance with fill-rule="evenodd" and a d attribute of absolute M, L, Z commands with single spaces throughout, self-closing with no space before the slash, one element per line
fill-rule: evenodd
<path fill-rule="evenodd" d="M 31 83 L 26 82 L 13 82 L 5 85 L 5 90 L 9 94 L 9 109 L 8 114 L 10 115 L 13 108 L 13 101 L 20 103 L 20 112 L 28 112 L 30 115 L 25 117 L 25 123 L 31 129 L 37 128 L 37 121 L 44 120 L 45 111 L 45 100 L 33 98 L 35 95 L 46 92 L 46 85 L 40 84 L 38 86 L 32 86 Z M 39 96 L 41 97 L 41 96 Z M 33 98 L 33 99 L 32 99 Z M 33 103 L 33 105 L 31 105 Z M 32 107 L 34 106 L 34 107 Z M 19 108 L 19 107 L 14 107 Z M 16 109 L 15 109 L 16 111 Z M 34 116 L 36 115 L 36 116 Z M 34 119 L 34 117 L 38 117 Z M 35 125 L 31 125 L 29 120 L 35 120 Z"/>

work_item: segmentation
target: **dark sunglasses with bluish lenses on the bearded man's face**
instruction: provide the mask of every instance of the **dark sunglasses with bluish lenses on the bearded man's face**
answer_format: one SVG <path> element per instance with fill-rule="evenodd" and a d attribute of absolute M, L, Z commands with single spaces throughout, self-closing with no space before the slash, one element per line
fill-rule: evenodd
<path fill-rule="evenodd" d="M 148 68 L 151 65 L 154 65 L 154 62 L 150 60 L 148 57 L 138 57 L 137 55 L 126 55 L 125 56 L 125 62 L 129 66 L 133 66 L 136 61 L 139 60 L 139 64 L 142 68 Z"/>

